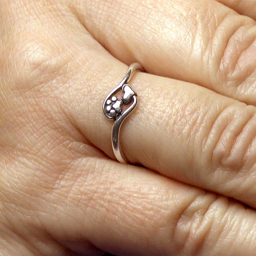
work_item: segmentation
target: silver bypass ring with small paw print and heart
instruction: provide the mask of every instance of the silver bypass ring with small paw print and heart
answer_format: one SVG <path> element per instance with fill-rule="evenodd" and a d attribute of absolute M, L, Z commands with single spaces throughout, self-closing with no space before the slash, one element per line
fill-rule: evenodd
<path fill-rule="evenodd" d="M 137 70 L 143 70 L 141 64 L 131 64 L 123 80 L 106 96 L 102 105 L 104 115 L 109 120 L 115 120 L 112 127 L 112 148 L 115 158 L 122 164 L 128 164 L 128 161 L 120 147 L 119 133 L 123 121 L 131 114 L 138 103 L 136 92 L 128 84 Z"/>

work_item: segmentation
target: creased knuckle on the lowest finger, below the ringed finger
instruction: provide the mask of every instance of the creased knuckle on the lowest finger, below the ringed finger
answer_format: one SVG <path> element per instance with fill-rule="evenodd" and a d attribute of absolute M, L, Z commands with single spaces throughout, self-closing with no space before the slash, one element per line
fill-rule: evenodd
<path fill-rule="evenodd" d="M 215 194 L 197 195 L 177 219 L 173 241 L 179 252 L 202 255 L 209 247 L 214 248 L 225 226 L 228 206 L 227 198 Z"/>

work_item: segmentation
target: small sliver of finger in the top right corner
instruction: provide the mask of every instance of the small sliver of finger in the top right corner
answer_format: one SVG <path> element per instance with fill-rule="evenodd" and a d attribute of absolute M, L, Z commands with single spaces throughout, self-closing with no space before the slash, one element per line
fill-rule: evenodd
<path fill-rule="evenodd" d="M 256 19 L 256 1 L 255 0 L 217 0 L 218 2 L 229 6 L 240 14 Z"/>

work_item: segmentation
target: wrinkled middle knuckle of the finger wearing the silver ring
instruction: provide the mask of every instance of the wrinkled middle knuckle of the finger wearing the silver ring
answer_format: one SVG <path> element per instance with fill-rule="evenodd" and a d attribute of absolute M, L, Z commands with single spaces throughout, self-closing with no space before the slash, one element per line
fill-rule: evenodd
<path fill-rule="evenodd" d="M 210 137 L 214 137 L 213 169 L 247 169 L 255 162 L 255 149 L 248 150 L 255 139 L 256 111 L 253 106 L 234 104 L 220 112 Z M 213 135 L 213 136 L 212 136 Z"/>

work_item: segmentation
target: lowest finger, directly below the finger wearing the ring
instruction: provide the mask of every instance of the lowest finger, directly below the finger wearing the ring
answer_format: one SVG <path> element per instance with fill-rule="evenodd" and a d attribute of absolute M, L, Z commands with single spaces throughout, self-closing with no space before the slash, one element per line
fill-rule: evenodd
<path fill-rule="evenodd" d="M 255 212 L 226 198 L 109 160 L 81 159 L 73 167 L 71 177 L 78 171 L 79 179 L 73 179 L 68 192 L 68 208 L 82 211 L 70 227 L 85 221 L 81 232 L 101 250 L 117 255 L 221 255 L 231 244 L 230 255 L 255 250 Z M 57 194 L 66 191 L 68 177 Z M 62 203 L 53 210 L 65 223 L 69 211 L 62 213 L 64 198 L 57 202 Z"/>

